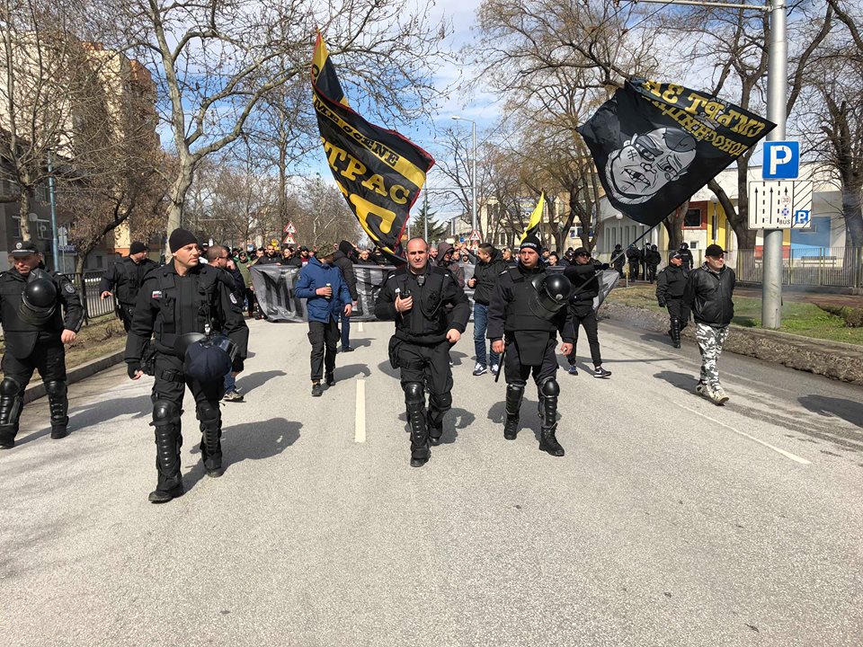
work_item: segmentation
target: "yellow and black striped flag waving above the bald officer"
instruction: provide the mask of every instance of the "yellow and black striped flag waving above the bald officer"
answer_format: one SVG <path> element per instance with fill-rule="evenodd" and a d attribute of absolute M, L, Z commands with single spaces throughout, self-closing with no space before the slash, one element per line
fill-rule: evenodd
<path fill-rule="evenodd" d="M 336 184 L 372 242 L 398 257 L 411 207 L 434 165 L 432 155 L 351 110 L 320 34 L 312 57 L 312 93 Z"/>

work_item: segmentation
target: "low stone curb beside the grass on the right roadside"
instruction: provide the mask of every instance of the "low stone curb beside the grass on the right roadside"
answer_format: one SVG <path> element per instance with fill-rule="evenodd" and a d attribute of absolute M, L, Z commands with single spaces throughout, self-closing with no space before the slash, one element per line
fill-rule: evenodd
<path fill-rule="evenodd" d="M 604 303 L 610 319 L 625 321 L 654 332 L 668 330 L 668 315 L 634 306 Z M 695 341 L 694 326 L 688 326 L 681 336 Z M 863 385 L 863 348 L 841 341 L 814 340 L 809 337 L 732 325 L 723 350 L 782 364 L 788 368 Z"/>

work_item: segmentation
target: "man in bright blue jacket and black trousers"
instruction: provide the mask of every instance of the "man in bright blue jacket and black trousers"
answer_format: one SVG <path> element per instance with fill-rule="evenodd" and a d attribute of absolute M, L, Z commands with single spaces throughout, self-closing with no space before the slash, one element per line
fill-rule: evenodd
<path fill-rule="evenodd" d="M 321 375 L 325 371 L 326 386 L 335 384 L 335 346 L 339 341 L 339 319 L 351 316 L 351 292 L 341 270 L 334 264 L 334 251 L 326 256 L 311 256 L 299 272 L 295 294 L 306 299 L 308 340 L 312 342 L 312 395 L 324 394 Z"/>

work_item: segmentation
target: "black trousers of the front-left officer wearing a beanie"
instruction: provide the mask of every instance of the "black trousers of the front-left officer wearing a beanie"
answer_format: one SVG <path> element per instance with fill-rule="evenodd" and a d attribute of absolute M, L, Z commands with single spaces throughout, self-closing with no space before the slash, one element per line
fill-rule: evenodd
<path fill-rule="evenodd" d="M 221 465 L 221 441 L 218 441 L 215 450 L 208 451 L 203 436 L 203 423 L 209 421 L 210 424 L 218 426 L 218 438 L 221 438 L 222 416 L 218 405 L 225 394 L 225 380 L 218 379 L 214 382 L 203 384 L 198 380 L 191 379 L 191 377 L 187 377 L 182 372 L 181 359 L 175 358 L 173 355 L 165 355 L 164 353 L 156 354 L 156 375 L 154 377 L 156 379 L 153 383 L 153 394 L 151 395 L 153 403 L 155 404 L 157 401 L 162 400 L 173 403 L 176 407 L 177 421 L 175 433 L 178 453 L 179 448 L 182 447 L 182 423 L 179 414 L 182 412 L 182 398 L 188 386 L 191 396 L 195 399 L 195 412 L 198 415 L 198 420 L 202 423 L 200 454 L 204 459 L 204 465 L 209 465 L 209 467 Z M 173 477 L 179 478 L 179 456 L 176 465 L 178 473 L 173 474 Z M 156 467 L 158 468 L 158 459 L 156 459 Z M 166 476 L 168 475 L 159 472 L 160 486 L 164 484 Z"/>

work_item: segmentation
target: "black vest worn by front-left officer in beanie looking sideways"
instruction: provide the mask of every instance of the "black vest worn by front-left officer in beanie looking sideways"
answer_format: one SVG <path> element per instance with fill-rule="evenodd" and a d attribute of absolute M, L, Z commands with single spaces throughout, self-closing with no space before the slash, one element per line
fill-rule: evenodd
<path fill-rule="evenodd" d="M 170 270 L 158 272 L 161 295 L 152 295 L 152 299 L 159 305 L 153 326 L 159 350 L 173 353 L 179 335 L 205 333 L 208 328 L 220 331 L 224 326 L 218 307 L 221 272 L 207 265 L 199 267 L 185 277 Z"/>

